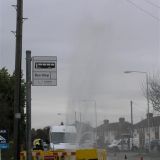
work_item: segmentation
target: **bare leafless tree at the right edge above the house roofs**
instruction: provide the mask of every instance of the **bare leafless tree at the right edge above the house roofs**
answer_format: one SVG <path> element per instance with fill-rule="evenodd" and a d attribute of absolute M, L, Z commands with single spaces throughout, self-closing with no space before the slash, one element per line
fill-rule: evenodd
<path fill-rule="evenodd" d="M 160 79 L 153 76 L 148 82 L 148 98 L 155 111 L 160 112 Z"/>

